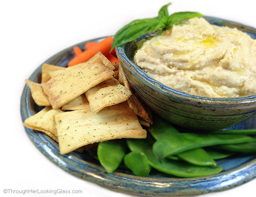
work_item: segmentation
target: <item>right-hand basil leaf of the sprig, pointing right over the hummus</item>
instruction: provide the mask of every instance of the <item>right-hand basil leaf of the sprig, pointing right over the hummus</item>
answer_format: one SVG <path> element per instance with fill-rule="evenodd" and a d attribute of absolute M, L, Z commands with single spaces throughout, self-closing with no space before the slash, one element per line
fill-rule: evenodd
<path fill-rule="evenodd" d="M 171 25 L 180 22 L 182 20 L 191 19 L 194 17 L 202 17 L 203 15 L 198 12 L 175 12 L 170 15 L 168 19 L 168 25 L 167 28 Z"/>

